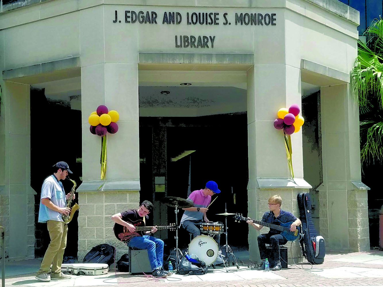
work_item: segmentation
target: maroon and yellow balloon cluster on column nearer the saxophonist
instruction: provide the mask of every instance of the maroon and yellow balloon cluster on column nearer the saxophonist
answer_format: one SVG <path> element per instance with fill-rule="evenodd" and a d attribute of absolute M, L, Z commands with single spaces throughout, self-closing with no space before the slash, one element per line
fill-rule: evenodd
<path fill-rule="evenodd" d="M 119 119 L 117 111 L 109 111 L 103 104 L 97 107 L 97 111 L 92 112 L 88 117 L 90 132 L 94 135 L 103 137 L 106 133 L 115 134 L 118 132 L 116 121 Z"/>

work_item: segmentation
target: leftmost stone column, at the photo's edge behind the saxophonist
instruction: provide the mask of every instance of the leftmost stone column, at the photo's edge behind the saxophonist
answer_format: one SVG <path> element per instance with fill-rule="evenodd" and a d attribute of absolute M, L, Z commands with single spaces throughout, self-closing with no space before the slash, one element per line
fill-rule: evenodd
<path fill-rule="evenodd" d="M 34 258 L 34 195 L 30 177 L 30 86 L 1 82 L 0 225 L 10 261 Z"/>

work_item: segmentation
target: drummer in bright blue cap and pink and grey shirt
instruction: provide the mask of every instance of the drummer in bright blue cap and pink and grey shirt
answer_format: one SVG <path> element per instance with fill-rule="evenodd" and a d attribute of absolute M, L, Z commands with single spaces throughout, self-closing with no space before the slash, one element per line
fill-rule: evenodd
<path fill-rule="evenodd" d="M 198 189 L 193 192 L 188 197 L 188 201 L 193 201 L 194 206 L 183 208 L 185 212 L 181 218 L 181 225 L 185 228 L 193 238 L 198 235 L 201 235 L 200 224 L 202 222 L 209 222 L 206 217 L 206 208 L 211 202 L 211 196 L 216 193 L 221 192 L 218 189 L 218 184 L 215 181 L 208 181 L 204 189 Z M 218 243 L 219 246 L 219 234 L 214 235 L 214 240 Z"/>

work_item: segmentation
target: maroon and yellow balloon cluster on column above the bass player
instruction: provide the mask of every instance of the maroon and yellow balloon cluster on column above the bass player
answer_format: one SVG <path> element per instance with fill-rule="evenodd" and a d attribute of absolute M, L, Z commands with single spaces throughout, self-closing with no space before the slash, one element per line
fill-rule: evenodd
<path fill-rule="evenodd" d="M 293 104 L 290 108 L 281 108 L 278 111 L 278 118 L 274 121 L 274 127 L 277 130 L 282 130 L 286 135 L 291 135 L 299 132 L 304 124 L 304 119 L 299 115 L 300 108 L 297 104 Z"/>

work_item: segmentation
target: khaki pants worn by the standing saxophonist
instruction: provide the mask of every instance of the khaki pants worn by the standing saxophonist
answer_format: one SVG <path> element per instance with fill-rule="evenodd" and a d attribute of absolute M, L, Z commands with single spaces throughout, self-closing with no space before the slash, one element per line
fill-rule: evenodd
<path fill-rule="evenodd" d="M 47 251 L 37 274 L 48 273 L 52 264 L 51 273 L 60 273 L 62 258 L 64 256 L 65 247 L 67 246 L 68 225 L 61 221 L 48 220 L 47 228 L 51 243 L 49 243 Z"/>

